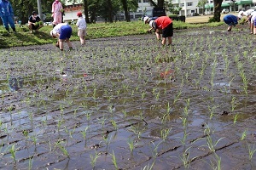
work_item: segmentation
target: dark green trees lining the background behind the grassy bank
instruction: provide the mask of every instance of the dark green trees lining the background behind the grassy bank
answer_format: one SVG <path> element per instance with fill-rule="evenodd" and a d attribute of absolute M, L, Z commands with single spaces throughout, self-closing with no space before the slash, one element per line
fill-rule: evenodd
<path fill-rule="evenodd" d="M 26 24 L 28 17 L 32 11 L 38 11 L 38 3 L 35 0 L 9 0 L 15 12 L 15 16 L 21 21 L 21 24 Z M 169 11 L 174 10 L 172 1 L 166 0 L 148 0 L 154 7 L 166 8 Z M 216 21 L 220 20 L 221 3 L 223 0 L 214 1 L 214 18 Z M 54 0 L 41 0 L 42 11 L 50 18 L 51 5 Z M 137 11 L 137 0 L 61 0 L 63 8 L 68 3 L 82 3 L 85 20 L 87 23 L 95 22 L 96 16 L 101 16 L 108 22 L 113 22 L 113 16 L 118 14 L 119 11 L 124 11 L 125 20 L 130 21 L 130 12 Z M 181 8 L 180 8 L 181 9 Z M 47 15 L 49 14 L 49 15 Z M 90 18 L 89 18 L 90 16 Z"/>

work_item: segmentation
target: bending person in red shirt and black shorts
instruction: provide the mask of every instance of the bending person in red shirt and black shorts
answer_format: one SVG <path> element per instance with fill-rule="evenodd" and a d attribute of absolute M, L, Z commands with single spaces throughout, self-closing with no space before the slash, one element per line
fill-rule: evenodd
<path fill-rule="evenodd" d="M 166 45 L 166 39 L 168 39 L 168 45 L 172 45 L 173 26 L 172 20 L 168 16 L 160 16 L 156 20 L 150 20 L 149 26 L 154 29 L 155 33 L 160 34 L 162 31 L 162 45 Z"/>

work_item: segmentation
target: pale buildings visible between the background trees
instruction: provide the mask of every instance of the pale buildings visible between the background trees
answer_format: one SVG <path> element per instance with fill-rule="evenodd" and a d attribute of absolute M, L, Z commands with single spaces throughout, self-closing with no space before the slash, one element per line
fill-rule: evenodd
<path fill-rule="evenodd" d="M 208 0 L 205 5 L 205 11 L 203 8 L 197 7 L 199 0 L 169 0 L 172 4 L 177 7 L 181 7 L 179 15 L 191 16 L 194 14 L 211 14 L 213 13 L 213 0 Z M 137 0 L 138 8 L 137 12 L 130 13 L 131 20 L 139 20 L 143 15 L 151 15 L 152 9 L 154 8 L 149 0 Z M 83 0 L 77 0 L 76 3 L 68 3 L 66 0 L 65 15 L 63 17 L 64 21 L 78 20 L 77 12 L 83 11 Z M 247 10 L 248 8 L 254 8 L 256 5 L 256 0 L 224 0 L 221 7 L 228 8 L 229 11 Z M 168 14 L 168 13 L 167 13 Z M 116 20 L 125 20 L 124 12 L 120 12 L 115 16 Z M 96 21 L 103 21 L 102 18 L 97 18 Z"/>

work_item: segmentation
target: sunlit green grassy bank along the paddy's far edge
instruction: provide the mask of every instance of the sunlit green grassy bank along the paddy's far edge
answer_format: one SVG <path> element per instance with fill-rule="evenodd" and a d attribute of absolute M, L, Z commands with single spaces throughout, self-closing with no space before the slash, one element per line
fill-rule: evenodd
<path fill-rule="evenodd" d="M 209 23 L 209 24 L 189 24 L 180 21 L 174 21 L 174 29 L 187 29 L 191 27 L 200 26 L 219 26 L 223 23 Z M 77 36 L 77 27 L 73 27 L 72 41 L 79 41 Z M 97 23 L 89 24 L 87 27 L 87 37 L 86 39 L 93 39 L 99 37 L 117 37 L 117 36 L 127 36 L 127 35 L 137 35 L 145 34 L 148 30 L 148 25 L 145 25 L 142 21 L 132 21 L 132 22 L 115 22 L 115 23 Z M 28 45 L 40 45 L 45 43 L 53 43 L 55 39 L 49 36 L 49 31 L 51 31 L 52 26 L 44 26 L 38 32 L 32 34 L 29 32 L 27 26 L 16 26 L 17 32 L 15 34 L 8 34 L 7 31 L 0 27 L 0 48 L 10 48 L 17 46 L 28 46 Z"/>

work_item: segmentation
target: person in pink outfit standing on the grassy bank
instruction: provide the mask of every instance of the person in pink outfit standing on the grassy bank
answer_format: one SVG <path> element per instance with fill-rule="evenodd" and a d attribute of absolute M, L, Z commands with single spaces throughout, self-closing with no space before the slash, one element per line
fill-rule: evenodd
<path fill-rule="evenodd" d="M 55 0 L 54 3 L 52 3 L 51 8 L 51 16 L 53 17 L 53 27 L 55 27 L 57 24 L 60 24 L 62 22 L 62 3 L 60 0 Z"/>

